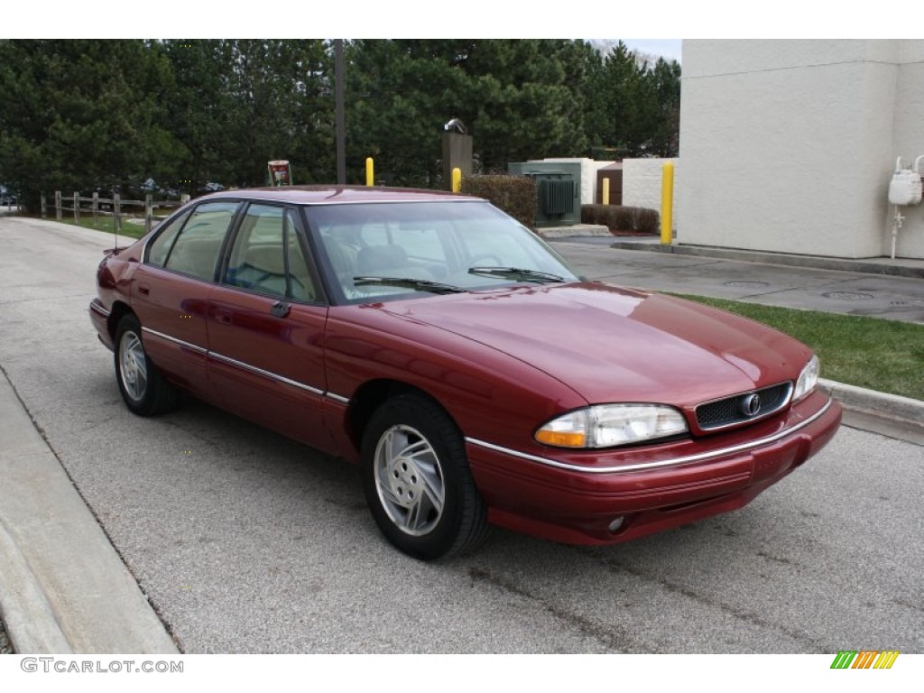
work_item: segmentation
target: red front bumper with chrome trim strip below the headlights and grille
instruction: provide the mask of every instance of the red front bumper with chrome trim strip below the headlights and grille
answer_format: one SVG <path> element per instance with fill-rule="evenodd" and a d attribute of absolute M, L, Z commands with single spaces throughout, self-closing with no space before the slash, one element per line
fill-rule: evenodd
<path fill-rule="evenodd" d="M 537 456 L 467 439 L 494 524 L 543 539 L 607 544 L 748 504 L 827 444 L 841 407 L 815 393 L 784 416 L 681 444 Z M 545 451 L 551 452 L 551 448 Z M 619 529 L 610 530 L 616 517 Z"/>

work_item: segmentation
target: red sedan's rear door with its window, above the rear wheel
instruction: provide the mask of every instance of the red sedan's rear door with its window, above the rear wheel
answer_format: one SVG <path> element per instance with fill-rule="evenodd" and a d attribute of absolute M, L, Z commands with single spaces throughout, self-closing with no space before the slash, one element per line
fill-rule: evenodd
<path fill-rule="evenodd" d="M 171 380 L 198 395 L 208 395 L 209 295 L 239 206 L 203 202 L 177 216 L 148 244 L 132 284 L 132 308 L 148 356 Z"/>

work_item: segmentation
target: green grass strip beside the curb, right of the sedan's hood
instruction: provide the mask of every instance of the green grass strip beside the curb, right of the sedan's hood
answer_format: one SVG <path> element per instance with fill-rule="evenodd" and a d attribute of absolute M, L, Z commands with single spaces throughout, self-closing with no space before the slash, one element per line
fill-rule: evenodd
<path fill-rule="evenodd" d="M 924 325 L 678 295 L 791 334 L 821 359 L 821 377 L 924 400 Z"/>

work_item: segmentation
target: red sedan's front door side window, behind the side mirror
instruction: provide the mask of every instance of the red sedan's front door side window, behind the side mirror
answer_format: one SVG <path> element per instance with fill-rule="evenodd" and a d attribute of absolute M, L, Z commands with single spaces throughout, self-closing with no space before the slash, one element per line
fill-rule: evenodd
<path fill-rule="evenodd" d="M 314 300 L 314 285 L 290 210 L 249 206 L 231 249 L 224 281 L 270 296 Z"/>

